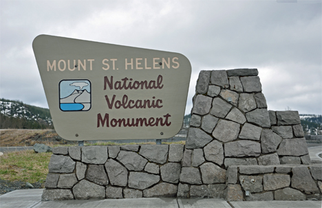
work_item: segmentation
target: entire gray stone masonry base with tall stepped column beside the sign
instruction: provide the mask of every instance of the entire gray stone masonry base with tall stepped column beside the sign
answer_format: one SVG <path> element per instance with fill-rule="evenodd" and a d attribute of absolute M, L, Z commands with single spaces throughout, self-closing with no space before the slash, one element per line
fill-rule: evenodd
<path fill-rule="evenodd" d="M 257 69 L 201 71 L 185 146 L 54 148 L 42 200 L 142 197 L 249 200 L 246 191 L 252 196 L 267 193 L 272 196 L 284 189 L 288 193 L 297 189 L 305 194 L 305 199 L 312 198 L 312 194 L 321 198 L 321 177 L 316 177 L 316 172 L 321 176 L 322 166 L 309 165 L 299 113 L 268 111 L 257 75 Z M 291 164 L 297 164 L 301 170 Z M 243 168 L 248 168 L 248 172 Z M 301 177 L 313 177 L 315 188 L 308 179 L 312 192 L 301 188 L 305 185 L 294 185 L 301 183 Z M 290 178 L 292 183 L 266 189 L 268 181 L 275 184 L 279 178 Z M 249 187 L 256 182 L 259 188 L 248 190 L 245 181 Z M 261 195 L 255 198 L 261 200 Z M 290 199 L 275 197 L 275 200 Z"/>

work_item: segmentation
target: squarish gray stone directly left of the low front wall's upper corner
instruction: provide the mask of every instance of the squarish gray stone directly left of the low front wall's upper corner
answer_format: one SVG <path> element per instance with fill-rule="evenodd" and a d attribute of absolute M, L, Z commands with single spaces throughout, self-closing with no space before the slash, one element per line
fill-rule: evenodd
<path fill-rule="evenodd" d="M 226 183 L 226 170 L 214 163 L 204 163 L 200 166 L 200 171 L 205 184 Z"/>

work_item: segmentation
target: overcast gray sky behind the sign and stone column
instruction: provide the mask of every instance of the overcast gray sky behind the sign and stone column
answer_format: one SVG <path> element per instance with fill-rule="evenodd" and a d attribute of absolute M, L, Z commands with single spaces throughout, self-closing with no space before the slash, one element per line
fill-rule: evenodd
<path fill-rule="evenodd" d="M 200 70 L 257 68 L 268 109 L 322 114 L 321 1 L 4 1 L 0 97 L 47 108 L 39 34 L 184 54 Z M 295 3 L 294 3 L 295 2 Z"/>

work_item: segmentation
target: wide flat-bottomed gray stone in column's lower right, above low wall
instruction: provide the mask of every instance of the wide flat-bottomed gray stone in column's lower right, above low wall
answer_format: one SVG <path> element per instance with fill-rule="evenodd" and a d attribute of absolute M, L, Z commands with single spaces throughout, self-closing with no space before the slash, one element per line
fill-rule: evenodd
<path fill-rule="evenodd" d="M 261 145 L 256 141 L 240 140 L 224 144 L 225 157 L 258 157 Z"/>

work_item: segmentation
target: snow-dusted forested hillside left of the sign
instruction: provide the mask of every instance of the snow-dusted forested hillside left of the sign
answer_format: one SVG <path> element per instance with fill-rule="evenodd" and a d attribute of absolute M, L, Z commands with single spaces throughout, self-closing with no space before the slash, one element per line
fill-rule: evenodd
<path fill-rule="evenodd" d="M 54 126 L 49 109 L 1 98 L 0 128 L 44 129 Z"/>

